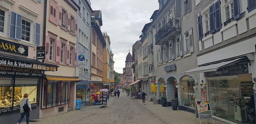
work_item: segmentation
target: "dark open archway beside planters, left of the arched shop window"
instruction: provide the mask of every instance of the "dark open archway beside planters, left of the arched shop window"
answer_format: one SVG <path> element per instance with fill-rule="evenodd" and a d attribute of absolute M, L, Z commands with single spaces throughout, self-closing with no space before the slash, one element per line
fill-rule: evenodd
<path fill-rule="evenodd" d="M 174 77 L 169 77 L 166 81 L 166 98 L 167 106 L 171 106 L 171 99 L 178 98 L 178 89 L 176 88 L 177 80 Z"/>

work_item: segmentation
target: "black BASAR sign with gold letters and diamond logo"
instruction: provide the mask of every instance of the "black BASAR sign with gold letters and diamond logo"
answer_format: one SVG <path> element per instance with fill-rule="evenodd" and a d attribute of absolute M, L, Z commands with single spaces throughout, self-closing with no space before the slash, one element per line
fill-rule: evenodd
<path fill-rule="evenodd" d="M 28 46 L 0 39 L 0 51 L 28 56 Z"/>

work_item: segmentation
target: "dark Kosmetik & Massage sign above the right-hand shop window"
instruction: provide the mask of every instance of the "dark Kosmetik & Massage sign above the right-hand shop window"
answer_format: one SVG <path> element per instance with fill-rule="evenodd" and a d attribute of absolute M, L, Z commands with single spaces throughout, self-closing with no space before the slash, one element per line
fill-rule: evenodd
<path fill-rule="evenodd" d="M 238 75 L 238 74 L 247 74 L 248 64 L 233 65 L 228 67 L 223 67 L 217 69 L 217 71 L 209 71 L 204 73 L 204 77 L 218 77 L 218 76 L 227 76 L 227 75 Z"/>

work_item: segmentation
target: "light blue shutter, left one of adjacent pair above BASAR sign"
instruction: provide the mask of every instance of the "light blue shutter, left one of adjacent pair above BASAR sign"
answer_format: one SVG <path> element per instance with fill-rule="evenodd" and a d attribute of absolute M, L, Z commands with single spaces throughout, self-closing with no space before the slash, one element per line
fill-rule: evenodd
<path fill-rule="evenodd" d="M 15 28 L 16 28 L 16 13 L 10 12 L 10 26 L 8 36 L 10 39 L 15 39 Z"/>

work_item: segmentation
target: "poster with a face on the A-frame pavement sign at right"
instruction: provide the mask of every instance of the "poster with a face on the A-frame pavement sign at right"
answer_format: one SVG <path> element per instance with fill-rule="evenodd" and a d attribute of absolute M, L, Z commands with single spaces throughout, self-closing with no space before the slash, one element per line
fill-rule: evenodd
<path fill-rule="evenodd" d="M 212 119 L 209 101 L 196 101 L 196 106 L 200 119 Z"/>

